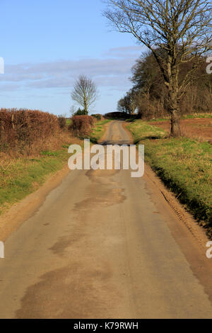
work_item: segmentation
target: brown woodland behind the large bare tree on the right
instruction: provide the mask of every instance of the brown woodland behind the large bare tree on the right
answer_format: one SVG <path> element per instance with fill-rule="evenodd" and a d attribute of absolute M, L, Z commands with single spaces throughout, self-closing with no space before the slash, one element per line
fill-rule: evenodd
<path fill-rule="evenodd" d="M 182 63 L 179 83 L 192 69 L 194 62 Z M 179 100 L 180 113 L 212 112 L 212 75 L 206 73 L 206 57 L 201 57 L 199 66 L 194 70 L 191 83 Z M 164 118 L 167 112 L 167 88 L 163 74 L 153 54 L 148 52 L 136 60 L 132 68 L 133 88 L 118 102 L 118 110 L 124 113 L 139 113 L 141 118 Z"/>

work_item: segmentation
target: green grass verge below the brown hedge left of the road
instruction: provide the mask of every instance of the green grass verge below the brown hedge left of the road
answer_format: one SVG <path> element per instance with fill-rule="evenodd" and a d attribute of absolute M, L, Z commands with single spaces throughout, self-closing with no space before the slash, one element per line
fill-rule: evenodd
<path fill-rule="evenodd" d="M 36 157 L 4 158 L 0 165 L 0 214 L 42 185 L 49 174 L 67 163 L 69 144 L 61 149 L 44 151 Z"/>

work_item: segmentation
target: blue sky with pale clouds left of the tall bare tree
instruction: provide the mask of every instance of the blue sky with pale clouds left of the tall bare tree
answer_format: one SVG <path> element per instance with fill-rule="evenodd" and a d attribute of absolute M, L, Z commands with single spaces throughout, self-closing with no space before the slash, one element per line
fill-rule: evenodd
<path fill-rule="evenodd" d="M 100 96 L 92 112 L 116 111 L 143 52 L 129 34 L 111 31 L 101 0 L 1 0 L 0 108 L 69 115 L 80 74 Z"/>

